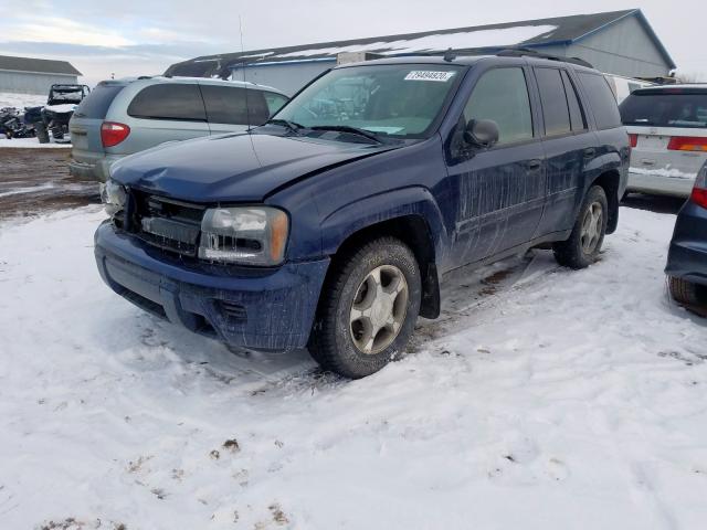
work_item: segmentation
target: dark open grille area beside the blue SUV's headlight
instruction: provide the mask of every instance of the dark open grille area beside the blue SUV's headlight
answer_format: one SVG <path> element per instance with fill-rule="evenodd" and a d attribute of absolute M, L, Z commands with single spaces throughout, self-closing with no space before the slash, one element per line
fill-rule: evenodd
<path fill-rule="evenodd" d="M 205 206 L 138 191 L 134 197 L 133 227 L 143 241 L 182 256 L 197 257 Z"/>

